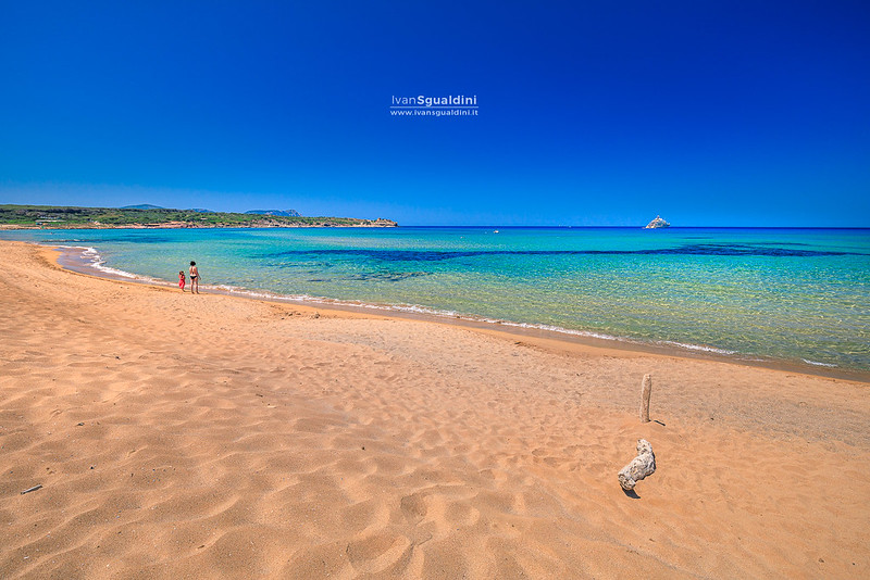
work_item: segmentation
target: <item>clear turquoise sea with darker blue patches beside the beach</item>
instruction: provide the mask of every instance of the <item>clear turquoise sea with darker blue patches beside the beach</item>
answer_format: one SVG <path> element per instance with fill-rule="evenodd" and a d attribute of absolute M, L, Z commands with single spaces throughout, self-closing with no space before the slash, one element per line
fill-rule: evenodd
<path fill-rule="evenodd" d="M 870 370 L 870 229 L 3 231 L 101 268 L 738 358 Z"/>

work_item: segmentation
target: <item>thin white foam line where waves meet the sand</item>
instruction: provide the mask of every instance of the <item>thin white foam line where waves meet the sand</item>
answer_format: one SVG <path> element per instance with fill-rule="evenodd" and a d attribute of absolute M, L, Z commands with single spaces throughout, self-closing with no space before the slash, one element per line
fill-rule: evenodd
<path fill-rule="evenodd" d="M 75 250 L 83 250 L 82 252 L 82 260 L 87 261 L 85 263 L 86 266 L 92 267 L 94 269 L 102 273 L 108 274 L 110 276 L 120 276 L 123 278 L 127 278 L 130 280 L 141 281 L 146 283 L 157 285 L 157 286 L 173 286 L 171 281 L 162 280 L 159 278 L 152 278 L 150 276 L 142 276 L 138 274 L 133 274 L 130 272 L 113 268 L 111 266 L 105 266 L 105 260 L 102 259 L 100 253 L 97 251 L 96 248 L 86 247 L 86 245 L 57 245 L 52 244 L 53 248 L 67 248 L 67 249 L 75 249 Z M 365 310 L 376 310 L 376 311 L 385 311 L 385 312 L 402 312 L 409 314 L 420 314 L 424 316 L 435 316 L 438 318 L 452 318 L 459 320 L 467 320 L 471 323 L 483 323 L 483 324 L 490 324 L 497 326 L 507 326 L 513 328 L 522 328 L 527 330 L 542 330 L 546 332 L 556 332 L 560 335 L 568 335 L 568 336 L 575 336 L 582 338 L 589 338 L 596 340 L 605 340 L 605 341 L 613 341 L 613 342 L 621 342 L 621 343 L 629 343 L 629 344 L 636 344 L 638 346 L 650 346 L 650 345 L 659 345 L 659 346 L 671 346 L 676 348 L 680 350 L 693 351 L 693 352 L 703 352 L 703 353 L 710 353 L 716 355 L 722 356 L 738 356 L 746 361 L 756 361 L 762 362 L 763 358 L 756 358 L 747 355 L 742 355 L 738 351 L 725 350 L 725 349 L 718 349 L 716 346 L 709 346 L 704 344 L 691 344 L 685 342 L 676 342 L 672 340 L 642 340 L 642 339 L 632 339 L 626 337 L 617 337 L 612 335 L 605 335 L 601 332 L 593 332 L 588 330 L 575 330 L 571 328 L 563 328 L 560 326 L 552 326 L 552 325 L 545 325 L 545 324 L 533 324 L 533 323 L 514 323 L 511 320 L 502 320 L 499 318 L 490 318 L 485 316 L 475 316 L 470 314 L 462 314 L 456 311 L 447 311 L 447 310 L 438 310 L 438 308 L 431 308 L 427 306 L 420 306 L 417 304 L 374 304 L 368 303 L 362 301 L 355 301 L 355 300 L 339 300 L 339 299 L 332 299 L 332 298 L 324 298 L 324 297 L 313 297 L 310 294 L 282 294 L 277 292 L 270 292 L 266 290 L 249 290 L 246 288 L 240 288 L 237 286 L 229 286 L 229 285 L 200 285 L 200 288 L 203 290 L 215 290 L 221 293 L 233 294 L 233 295 L 241 295 L 246 298 L 253 298 L 253 299 L 261 299 L 261 300 L 270 300 L 276 302 L 296 302 L 302 304 L 323 304 L 325 306 L 349 306 L 356 308 L 365 308 Z M 837 365 L 826 364 L 826 363 L 818 363 L 815 361 L 808 361 L 806 358 L 801 358 L 805 363 L 813 366 L 823 366 L 823 367 L 832 367 L 836 368 Z"/>

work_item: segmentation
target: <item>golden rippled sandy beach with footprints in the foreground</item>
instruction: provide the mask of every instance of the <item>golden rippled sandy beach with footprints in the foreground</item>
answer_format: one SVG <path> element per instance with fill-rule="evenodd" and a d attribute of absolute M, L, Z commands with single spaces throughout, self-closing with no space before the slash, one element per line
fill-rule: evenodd
<path fill-rule="evenodd" d="M 0 250 L 1 578 L 870 575 L 868 382 Z"/>

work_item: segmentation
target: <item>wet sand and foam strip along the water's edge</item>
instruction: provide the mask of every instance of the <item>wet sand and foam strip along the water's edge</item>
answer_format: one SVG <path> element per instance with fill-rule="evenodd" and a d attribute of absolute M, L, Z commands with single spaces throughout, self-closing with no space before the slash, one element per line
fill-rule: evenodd
<path fill-rule="evenodd" d="M 85 253 L 87 251 L 92 251 L 95 256 L 99 259 L 98 250 L 91 247 L 64 247 L 40 243 L 33 244 L 40 248 L 51 248 L 55 250 L 58 252 L 55 263 L 61 268 L 74 272 L 76 274 L 129 283 L 162 287 L 166 289 L 177 288 L 177 286 L 171 280 L 161 280 L 111 267 L 98 268 L 95 266 L 95 261 L 88 263 L 85 260 Z M 86 252 L 75 252 L 75 250 L 85 250 Z M 241 288 L 236 289 L 233 287 L 212 285 L 203 285 L 201 290 L 202 293 L 231 295 L 245 300 L 294 304 L 308 308 L 322 308 L 336 312 L 375 315 L 384 318 L 411 319 L 471 328 L 483 332 L 502 333 L 508 337 L 520 337 L 526 340 L 539 341 L 542 344 L 547 344 L 548 348 L 556 350 L 570 350 L 572 345 L 582 345 L 604 351 L 627 352 L 652 356 L 674 356 L 687 360 L 714 361 L 739 366 L 768 368 L 784 373 L 799 373 L 813 377 L 835 378 L 870 383 L 870 370 L 830 367 L 824 364 L 809 363 L 806 361 L 804 363 L 798 363 L 795 361 L 754 358 L 750 355 L 730 353 L 706 345 L 646 342 L 621 337 L 596 336 L 593 332 L 584 332 L 580 330 L 575 331 L 571 329 L 552 327 L 542 328 L 536 325 L 513 323 L 509 320 L 494 320 L 486 318 L 476 319 L 469 316 L 452 315 L 449 313 L 425 312 L 422 310 L 415 312 L 412 308 L 402 310 L 401 307 L 395 305 L 352 304 L 325 298 L 289 297 L 265 290 L 249 290 Z"/>

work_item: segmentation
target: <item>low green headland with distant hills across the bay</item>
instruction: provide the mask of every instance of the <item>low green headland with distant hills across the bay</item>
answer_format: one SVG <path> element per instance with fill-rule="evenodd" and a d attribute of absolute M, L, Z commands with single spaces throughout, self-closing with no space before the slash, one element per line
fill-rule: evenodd
<path fill-rule="evenodd" d="M 117 207 L 61 207 L 0 205 L 0 225 L 44 228 L 99 227 L 348 227 L 396 226 L 389 219 L 356 217 L 271 216 L 238 213 L 201 213 L 194 210 L 125 210 Z"/>

